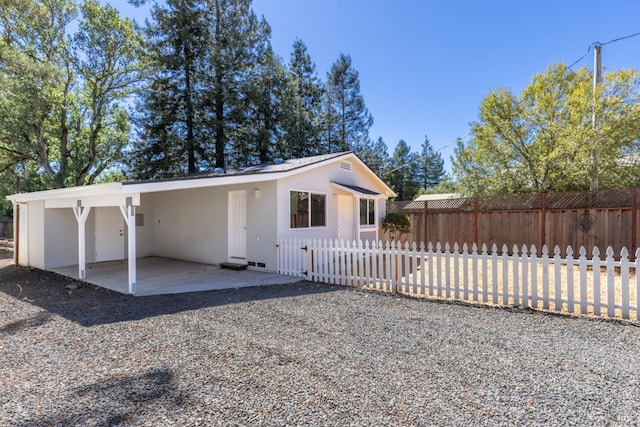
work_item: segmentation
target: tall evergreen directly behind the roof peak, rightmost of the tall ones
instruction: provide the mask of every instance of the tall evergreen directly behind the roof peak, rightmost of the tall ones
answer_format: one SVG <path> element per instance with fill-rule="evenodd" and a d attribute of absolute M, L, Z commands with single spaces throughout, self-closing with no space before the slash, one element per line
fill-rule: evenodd
<path fill-rule="evenodd" d="M 327 81 L 325 106 L 325 144 L 330 152 L 358 150 L 369 139 L 373 117 L 360 93 L 358 72 L 351 57 L 340 54 L 331 67 Z"/>

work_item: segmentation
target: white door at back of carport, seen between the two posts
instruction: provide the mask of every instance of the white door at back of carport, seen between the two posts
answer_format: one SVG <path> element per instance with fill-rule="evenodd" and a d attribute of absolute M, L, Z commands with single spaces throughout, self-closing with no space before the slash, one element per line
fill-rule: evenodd
<path fill-rule="evenodd" d="M 124 218 L 117 207 L 96 208 L 96 262 L 124 259 Z"/>

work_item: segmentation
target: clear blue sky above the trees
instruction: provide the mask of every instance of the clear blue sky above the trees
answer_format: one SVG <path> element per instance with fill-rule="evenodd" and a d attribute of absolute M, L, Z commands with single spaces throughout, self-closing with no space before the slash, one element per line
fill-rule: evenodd
<path fill-rule="evenodd" d="M 112 5 L 144 20 L 125 0 Z M 374 117 L 370 135 L 389 151 L 414 151 L 427 135 L 450 170 L 451 144 L 469 133 L 493 89 L 518 93 L 547 66 L 571 64 L 593 42 L 640 32 L 640 1 L 609 0 L 253 0 L 289 60 L 296 38 L 324 80 L 340 52 L 351 55 Z M 640 68 L 640 36 L 604 46 L 605 72 Z M 593 63 L 589 53 L 576 67 Z M 448 146 L 448 147 L 447 147 Z"/>

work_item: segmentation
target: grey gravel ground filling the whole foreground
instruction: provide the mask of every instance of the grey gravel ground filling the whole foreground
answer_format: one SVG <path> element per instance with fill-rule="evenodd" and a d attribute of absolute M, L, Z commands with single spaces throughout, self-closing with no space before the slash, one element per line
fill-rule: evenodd
<path fill-rule="evenodd" d="M 68 289 L 75 288 L 77 289 Z M 0 425 L 640 425 L 638 325 L 0 268 Z"/>

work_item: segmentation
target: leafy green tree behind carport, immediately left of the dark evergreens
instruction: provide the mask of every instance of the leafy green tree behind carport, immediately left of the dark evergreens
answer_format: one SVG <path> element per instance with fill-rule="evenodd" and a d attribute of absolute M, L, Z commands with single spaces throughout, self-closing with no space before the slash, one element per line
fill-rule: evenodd
<path fill-rule="evenodd" d="M 61 125 L 61 152 L 73 165 L 75 185 L 92 184 L 123 157 L 129 143 L 130 120 L 125 101 L 142 81 L 139 61 L 142 36 L 137 27 L 121 18 L 112 6 L 86 0 L 82 19 L 71 44 L 71 63 L 80 77 L 76 96 L 79 108 L 70 114 L 75 129 L 84 130 L 64 144 L 68 131 Z"/>

